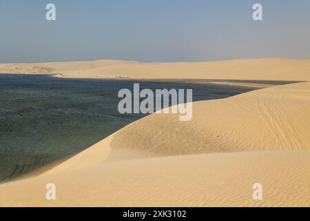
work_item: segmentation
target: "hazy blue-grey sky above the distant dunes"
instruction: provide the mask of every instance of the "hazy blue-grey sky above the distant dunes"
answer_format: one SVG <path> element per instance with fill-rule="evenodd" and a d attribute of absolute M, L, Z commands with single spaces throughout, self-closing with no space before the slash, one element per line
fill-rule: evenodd
<path fill-rule="evenodd" d="M 0 27 L 0 63 L 310 59 L 309 0 L 0 0 Z"/>

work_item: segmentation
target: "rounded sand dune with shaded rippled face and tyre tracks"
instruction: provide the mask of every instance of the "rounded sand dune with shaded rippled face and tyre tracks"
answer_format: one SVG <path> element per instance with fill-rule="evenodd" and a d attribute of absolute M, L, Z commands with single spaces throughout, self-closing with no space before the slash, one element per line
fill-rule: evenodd
<path fill-rule="evenodd" d="M 310 150 L 310 82 L 194 102 L 193 118 L 154 114 L 122 128 L 112 148 L 149 156 Z"/>

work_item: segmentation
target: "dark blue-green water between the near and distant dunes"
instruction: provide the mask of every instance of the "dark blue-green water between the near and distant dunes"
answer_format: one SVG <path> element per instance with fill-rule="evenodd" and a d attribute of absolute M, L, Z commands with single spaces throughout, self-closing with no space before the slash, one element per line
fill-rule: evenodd
<path fill-rule="evenodd" d="M 218 99 L 252 88 L 181 82 L 59 79 L 0 75 L 0 182 L 73 155 L 144 117 L 117 111 L 118 90 L 192 88 L 193 100 Z"/>

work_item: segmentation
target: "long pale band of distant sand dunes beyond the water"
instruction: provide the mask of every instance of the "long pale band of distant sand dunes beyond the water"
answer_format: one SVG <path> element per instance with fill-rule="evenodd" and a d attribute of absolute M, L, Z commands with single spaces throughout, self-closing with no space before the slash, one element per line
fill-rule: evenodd
<path fill-rule="evenodd" d="M 56 73 L 71 78 L 255 79 L 310 81 L 310 60 L 240 59 L 211 62 L 140 63 L 76 61 L 0 64 L 0 73 Z"/>

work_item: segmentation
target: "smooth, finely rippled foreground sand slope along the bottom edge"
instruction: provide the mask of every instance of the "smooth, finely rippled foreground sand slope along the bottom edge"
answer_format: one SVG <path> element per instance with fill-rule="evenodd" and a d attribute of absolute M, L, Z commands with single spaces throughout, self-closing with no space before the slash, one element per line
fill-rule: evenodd
<path fill-rule="evenodd" d="M 0 206 L 310 206 L 310 151 L 159 157 L 3 184 Z M 56 200 L 45 185 L 56 184 Z M 254 183 L 263 200 L 252 199 Z"/>

